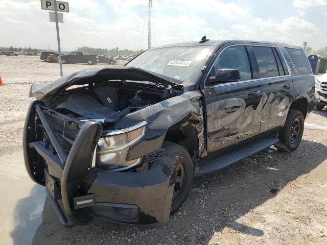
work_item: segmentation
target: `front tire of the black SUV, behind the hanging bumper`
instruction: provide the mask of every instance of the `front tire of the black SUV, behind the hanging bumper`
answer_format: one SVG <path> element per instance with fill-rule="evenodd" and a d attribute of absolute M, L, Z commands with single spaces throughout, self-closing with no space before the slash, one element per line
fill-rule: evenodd
<path fill-rule="evenodd" d="M 179 144 L 164 141 L 162 147 L 165 149 L 165 157 L 179 156 L 183 158 L 181 167 L 178 170 L 176 178 L 176 180 L 179 179 L 179 181 L 181 181 L 182 183 L 180 184 L 179 182 L 175 183 L 174 185 L 173 200 L 170 210 L 170 214 L 173 214 L 184 203 L 186 197 L 190 192 L 194 177 L 193 161 L 188 151 L 186 151 L 186 149 L 180 146 Z M 179 175 L 183 175 L 183 177 L 180 178 Z"/>

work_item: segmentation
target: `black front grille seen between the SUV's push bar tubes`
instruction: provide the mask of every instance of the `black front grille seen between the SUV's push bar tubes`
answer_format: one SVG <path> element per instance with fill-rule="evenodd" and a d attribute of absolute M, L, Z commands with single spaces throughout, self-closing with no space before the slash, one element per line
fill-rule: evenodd
<path fill-rule="evenodd" d="M 46 110 L 44 111 L 44 116 L 48 121 L 51 129 L 53 130 L 62 149 L 68 155 L 80 131 L 80 125 L 76 121 L 60 117 L 59 115 Z M 45 136 L 43 137 L 44 140 L 48 140 L 49 144 L 51 145 L 52 143 L 50 142 L 45 130 L 43 130 L 43 134 Z"/>

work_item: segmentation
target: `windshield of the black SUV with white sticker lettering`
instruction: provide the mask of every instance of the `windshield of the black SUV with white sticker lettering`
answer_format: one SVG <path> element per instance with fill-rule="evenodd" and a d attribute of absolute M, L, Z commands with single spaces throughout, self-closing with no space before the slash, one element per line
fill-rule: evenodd
<path fill-rule="evenodd" d="M 187 82 L 201 70 L 201 64 L 211 49 L 208 46 L 157 48 L 145 51 L 126 66 L 146 69 Z"/>

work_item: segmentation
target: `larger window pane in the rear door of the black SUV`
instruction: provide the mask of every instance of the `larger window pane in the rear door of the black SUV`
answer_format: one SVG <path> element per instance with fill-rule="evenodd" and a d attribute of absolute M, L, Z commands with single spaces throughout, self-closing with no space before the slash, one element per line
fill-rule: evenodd
<path fill-rule="evenodd" d="M 279 76 L 277 63 L 271 47 L 252 46 L 259 67 L 260 78 Z"/>

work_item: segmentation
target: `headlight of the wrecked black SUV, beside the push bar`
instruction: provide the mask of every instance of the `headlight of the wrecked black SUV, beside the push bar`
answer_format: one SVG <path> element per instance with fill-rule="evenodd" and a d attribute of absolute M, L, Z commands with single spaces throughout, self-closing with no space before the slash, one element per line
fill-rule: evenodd
<path fill-rule="evenodd" d="M 115 130 L 100 138 L 97 145 L 96 164 L 106 170 L 124 170 L 138 165 L 141 158 L 126 161 L 130 146 L 141 139 L 145 134 L 146 121 L 130 128 Z"/>

